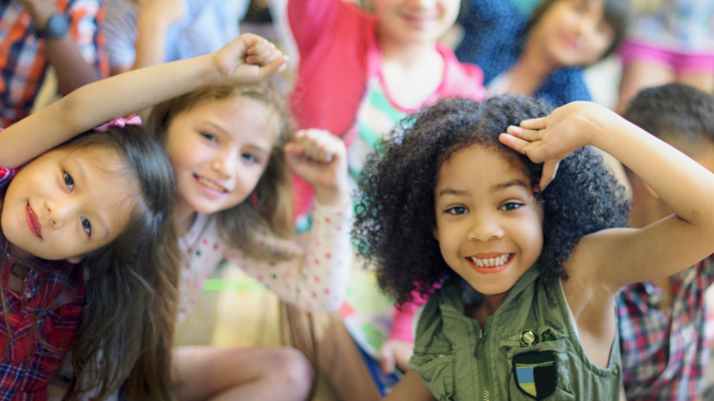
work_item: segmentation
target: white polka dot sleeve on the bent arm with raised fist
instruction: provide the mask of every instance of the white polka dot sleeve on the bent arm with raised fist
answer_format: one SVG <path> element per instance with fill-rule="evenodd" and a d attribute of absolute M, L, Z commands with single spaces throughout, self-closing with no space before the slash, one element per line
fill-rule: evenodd
<path fill-rule="evenodd" d="M 256 260 L 243 252 L 228 252 L 226 257 L 286 302 L 308 311 L 334 312 L 347 293 L 351 212 L 316 202 L 311 232 L 305 234 L 309 238 L 293 258 Z"/>

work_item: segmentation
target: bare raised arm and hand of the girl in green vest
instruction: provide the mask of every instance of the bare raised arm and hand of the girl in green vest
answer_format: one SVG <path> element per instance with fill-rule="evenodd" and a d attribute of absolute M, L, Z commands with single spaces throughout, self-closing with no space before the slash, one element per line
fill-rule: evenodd
<path fill-rule="evenodd" d="M 714 174 L 640 127 L 594 103 L 573 102 L 508 133 L 502 143 L 545 161 L 542 186 L 555 176 L 557 161 L 591 144 L 632 169 L 675 213 L 642 229 L 602 230 L 578 242 L 577 262 L 570 263 L 611 291 L 675 274 L 714 252 Z"/>

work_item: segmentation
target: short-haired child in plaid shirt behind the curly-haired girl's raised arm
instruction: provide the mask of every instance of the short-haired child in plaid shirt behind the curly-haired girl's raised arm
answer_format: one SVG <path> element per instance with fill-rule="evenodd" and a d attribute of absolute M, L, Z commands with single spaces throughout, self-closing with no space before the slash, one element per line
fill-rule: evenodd
<path fill-rule="evenodd" d="M 671 84 L 640 92 L 623 115 L 714 171 L 714 96 Z M 672 214 L 649 185 L 632 184 L 631 225 Z M 693 400 L 702 391 L 707 348 L 704 293 L 714 282 L 714 255 L 677 274 L 627 285 L 617 299 L 622 378 L 628 400 Z"/>

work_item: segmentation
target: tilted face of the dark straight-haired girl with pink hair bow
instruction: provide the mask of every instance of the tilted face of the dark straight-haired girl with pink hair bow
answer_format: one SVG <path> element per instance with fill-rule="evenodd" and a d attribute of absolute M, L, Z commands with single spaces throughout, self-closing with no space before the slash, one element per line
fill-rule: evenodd
<path fill-rule="evenodd" d="M 133 192 L 116 151 L 98 145 L 48 151 L 12 178 L 3 233 L 38 258 L 79 263 L 124 231 L 136 206 Z"/>

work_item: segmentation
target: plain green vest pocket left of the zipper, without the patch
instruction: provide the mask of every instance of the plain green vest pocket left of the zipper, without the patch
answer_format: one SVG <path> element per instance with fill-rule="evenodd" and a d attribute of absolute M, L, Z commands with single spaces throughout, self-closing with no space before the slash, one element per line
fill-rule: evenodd
<path fill-rule="evenodd" d="M 415 347 L 409 367 L 419 373 L 424 384 L 439 401 L 453 400 L 454 392 L 454 356 L 450 347 L 444 349 Z M 439 353 L 444 351 L 444 353 Z"/>

